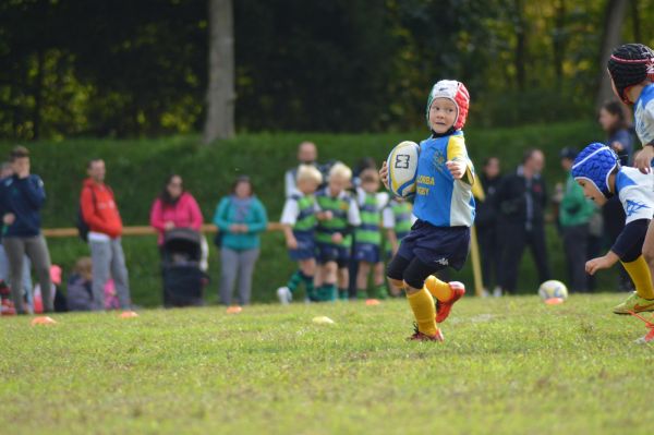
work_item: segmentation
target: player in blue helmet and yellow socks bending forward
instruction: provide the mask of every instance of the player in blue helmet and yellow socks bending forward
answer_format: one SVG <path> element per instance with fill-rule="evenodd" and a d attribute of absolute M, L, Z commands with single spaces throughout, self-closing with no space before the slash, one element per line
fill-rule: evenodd
<path fill-rule="evenodd" d="M 627 219 L 625 229 L 604 256 L 585 265 L 586 273 L 611 267 L 618 261 L 635 285 L 635 291 L 614 307 L 616 314 L 654 311 L 652 275 L 642 255 L 642 246 L 654 212 L 654 173 L 642 173 L 635 168 L 620 167 L 618 156 L 606 145 L 586 146 L 574 159 L 572 177 L 583 188 L 586 197 L 597 205 L 618 195 Z"/>

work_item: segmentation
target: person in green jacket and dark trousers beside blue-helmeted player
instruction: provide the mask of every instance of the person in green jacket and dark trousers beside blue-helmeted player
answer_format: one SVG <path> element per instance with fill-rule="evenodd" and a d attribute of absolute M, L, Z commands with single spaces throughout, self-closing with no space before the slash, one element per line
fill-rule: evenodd
<path fill-rule="evenodd" d="M 559 208 L 559 223 L 564 233 L 570 288 L 572 291 L 585 292 L 589 290 L 585 273 L 589 222 L 595 213 L 595 205 L 583 195 L 583 190 L 570 173 L 577 154 L 572 148 L 561 150 L 561 167 L 568 172 L 568 178 Z"/>

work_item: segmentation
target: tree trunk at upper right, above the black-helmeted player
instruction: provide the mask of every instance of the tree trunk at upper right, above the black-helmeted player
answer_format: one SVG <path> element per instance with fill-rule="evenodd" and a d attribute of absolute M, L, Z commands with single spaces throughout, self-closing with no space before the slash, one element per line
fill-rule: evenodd
<path fill-rule="evenodd" d="M 613 97 L 610 88 L 610 77 L 606 72 L 606 62 L 611 51 L 621 41 L 622 21 L 625 20 L 625 10 L 629 0 L 607 0 L 604 17 L 604 32 L 602 34 L 602 52 L 600 69 L 602 76 L 600 78 L 600 88 L 595 97 L 595 107 L 598 109 L 604 101 Z"/>

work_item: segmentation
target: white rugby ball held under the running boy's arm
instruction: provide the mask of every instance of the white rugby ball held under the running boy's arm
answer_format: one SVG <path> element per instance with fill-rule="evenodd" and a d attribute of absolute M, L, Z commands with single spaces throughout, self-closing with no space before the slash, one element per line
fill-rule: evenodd
<path fill-rule="evenodd" d="M 396 145 L 388 155 L 388 189 L 396 196 L 415 195 L 415 173 L 420 146 L 415 142 L 404 141 Z"/>

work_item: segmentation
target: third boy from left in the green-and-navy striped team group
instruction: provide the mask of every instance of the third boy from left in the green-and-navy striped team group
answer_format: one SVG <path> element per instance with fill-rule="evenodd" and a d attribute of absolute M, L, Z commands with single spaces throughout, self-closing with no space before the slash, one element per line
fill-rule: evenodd
<path fill-rule="evenodd" d="M 375 294 L 371 300 L 386 299 L 384 262 L 382 259 L 382 210 L 388 203 L 388 193 L 379 193 L 379 173 L 376 169 L 361 172 L 361 188 L 358 189 L 361 226 L 354 232 L 354 259 L 359 262 L 356 274 L 356 297 L 368 299 L 368 275 L 373 269 Z"/>

